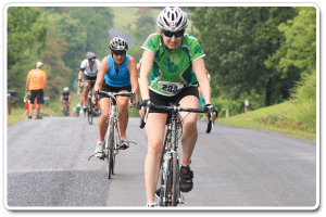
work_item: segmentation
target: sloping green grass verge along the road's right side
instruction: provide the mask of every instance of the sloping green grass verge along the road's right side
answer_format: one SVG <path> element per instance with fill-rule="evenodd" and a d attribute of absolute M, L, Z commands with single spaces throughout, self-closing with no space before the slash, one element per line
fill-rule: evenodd
<path fill-rule="evenodd" d="M 304 123 L 291 118 L 293 106 L 292 101 L 287 101 L 228 118 L 218 118 L 216 122 L 316 141 L 316 128 L 306 129 L 303 127 Z"/>

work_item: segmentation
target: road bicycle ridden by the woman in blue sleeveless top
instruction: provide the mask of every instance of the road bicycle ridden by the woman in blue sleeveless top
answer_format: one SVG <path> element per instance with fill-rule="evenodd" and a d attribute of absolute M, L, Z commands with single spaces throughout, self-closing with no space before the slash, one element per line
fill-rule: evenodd
<path fill-rule="evenodd" d="M 118 153 L 118 149 L 121 145 L 120 139 L 120 124 L 117 118 L 117 103 L 116 97 L 130 97 L 130 101 L 134 101 L 135 92 L 106 92 L 106 91 L 98 91 L 98 94 L 108 95 L 111 99 L 110 104 L 110 113 L 109 113 L 109 125 L 105 133 L 105 148 L 103 150 L 103 155 L 100 159 L 108 161 L 108 178 L 111 179 L 111 176 L 114 175 L 114 166 L 115 166 L 115 155 Z M 97 95 L 96 95 L 97 98 Z M 129 141 L 129 143 L 135 143 Z M 136 144 L 136 143 L 135 143 Z"/>

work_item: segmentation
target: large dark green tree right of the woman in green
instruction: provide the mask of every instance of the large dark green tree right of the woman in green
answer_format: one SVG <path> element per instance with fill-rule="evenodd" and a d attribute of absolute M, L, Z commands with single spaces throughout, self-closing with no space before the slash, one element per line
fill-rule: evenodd
<path fill-rule="evenodd" d="M 280 47 L 277 25 L 293 17 L 291 8 L 189 9 L 206 54 L 206 67 L 215 80 L 212 86 L 220 86 L 213 92 L 222 91 L 234 100 L 243 93 L 273 92 L 274 82 L 280 80 L 271 80 L 274 72 L 264 61 Z M 267 105 L 271 97 L 266 95 Z"/>

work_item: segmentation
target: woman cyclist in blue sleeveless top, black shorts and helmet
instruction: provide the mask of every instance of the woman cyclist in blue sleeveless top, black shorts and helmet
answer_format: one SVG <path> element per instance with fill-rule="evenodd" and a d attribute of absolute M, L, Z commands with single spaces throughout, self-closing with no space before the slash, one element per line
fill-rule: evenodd
<path fill-rule="evenodd" d="M 134 58 L 126 54 L 128 50 L 127 42 L 123 38 L 115 37 L 110 42 L 110 49 L 111 54 L 105 56 L 101 62 L 95 90 L 108 92 L 136 92 L 138 90 L 138 72 Z M 122 150 L 129 148 L 129 142 L 126 138 L 128 101 L 129 98 L 127 97 L 116 97 L 122 142 L 120 149 Z M 101 117 L 99 119 L 100 138 L 97 141 L 95 154 L 96 156 L 101 157 L 105 144 L 104 136 L 108 129 L 110 98 L 102 94 L 99 95 L 99 104 L 101 107 Z M 130 104 L 130 106 L 133 105 Z"/>

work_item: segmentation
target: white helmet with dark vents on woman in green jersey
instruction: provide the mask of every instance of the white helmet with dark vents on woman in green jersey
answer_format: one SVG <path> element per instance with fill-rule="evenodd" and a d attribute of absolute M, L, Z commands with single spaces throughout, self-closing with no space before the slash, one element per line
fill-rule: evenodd
<path fill-rule="evenodd" d="M 178 7 L 166 7 L 159 14 L 156 24 L 163 30 L 179 31 L 187 28 L 188 17 Z"/>

